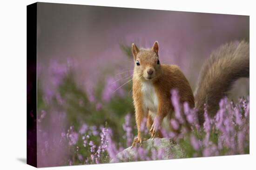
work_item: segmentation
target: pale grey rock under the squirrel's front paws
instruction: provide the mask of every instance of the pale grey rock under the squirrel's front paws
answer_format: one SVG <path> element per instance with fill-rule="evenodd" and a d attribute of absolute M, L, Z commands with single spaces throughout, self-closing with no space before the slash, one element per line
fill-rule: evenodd
<path fill-rule="evenodd" d="M 159 156 L 161 155 L 161 156 Z M 169 138 L 148 139 L 140 147 L 128 147 L 119 152 L 110 163 L 184 158 L 182 148 Z"/>

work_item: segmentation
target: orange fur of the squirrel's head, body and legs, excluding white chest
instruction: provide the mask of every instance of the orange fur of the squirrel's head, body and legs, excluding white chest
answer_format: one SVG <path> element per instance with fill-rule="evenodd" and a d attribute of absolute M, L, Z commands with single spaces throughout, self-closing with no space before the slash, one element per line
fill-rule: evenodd
<path fill-rule="evenodd" d="M 157 42 L 155 42 L 152 49 L 140 50 L 135 44 L 132 44 L 132 52 L 135 60 L 135 69 L 133 75 L 133 100 L 135 106 L 136 125 L 138 128 L 138 137 L 135 139 L 135 143 L 142 142 L 140 126 L 143 117 L 148 114 L 149 109 L 143 109 L 143 98 L 141 91 L 142 82 L 149 82 L 155 89 L 158 99 L 156 116 L 160 118 L 160 124 L 168 114 L 173 112 L 173 106 L 170 100 L 171 89 L 175 88 L 179 91 L 181 102 L 187 101 L 190 107 L 195 107 L 192 89 L 179 67 L 176 65 L 157 64 L 157 59 L 159 58 L 158 49 L 159 46 Z M 139 66 L 136 65 L 137 61 L 140 63 Z M 150 79 L 148 79 L 148 69 L 154 70 L 152 77 L 149 77 Z M 153 124 L 153 120 L 150 115 L 148 115 L 148 118 L 150 118 L 147 122 L 147 127 L 149 130 L 150 126 Z M 171 115 L 169 115 L 168 118 L 171 118 Z"/>

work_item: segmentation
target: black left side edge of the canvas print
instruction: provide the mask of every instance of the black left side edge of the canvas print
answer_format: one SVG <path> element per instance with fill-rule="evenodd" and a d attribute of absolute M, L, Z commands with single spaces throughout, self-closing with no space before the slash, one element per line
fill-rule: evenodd
<path fill-rule="evenodd" d="M 37 167 L 37 3 L 27 6 L 27 164 Z"/>

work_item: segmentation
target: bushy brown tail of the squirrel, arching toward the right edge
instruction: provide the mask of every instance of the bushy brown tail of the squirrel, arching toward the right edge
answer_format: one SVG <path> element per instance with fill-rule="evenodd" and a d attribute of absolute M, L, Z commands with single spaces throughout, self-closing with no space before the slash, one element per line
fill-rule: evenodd
<path fill-rule="evenodd" d="M 240 77 L 249 77 L 249 43 L 224 44 L 211 54 L 202 67 L 195 91 L 195 108 L 201 124 L 204 121 L 204 104 L 207 104 L 209 115 L 214 116 L 219 101 Z"/>

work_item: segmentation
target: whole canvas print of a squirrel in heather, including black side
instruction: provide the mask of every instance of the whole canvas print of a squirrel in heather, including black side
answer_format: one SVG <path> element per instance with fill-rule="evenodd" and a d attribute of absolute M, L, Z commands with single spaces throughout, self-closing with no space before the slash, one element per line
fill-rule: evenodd
<path fill-rule="evenodd" d="M 28 164 L 237 154 L 249 154 L 249 16 L 27 6 Z"/>

